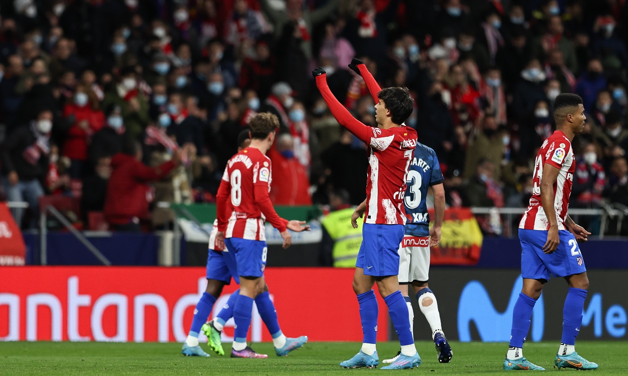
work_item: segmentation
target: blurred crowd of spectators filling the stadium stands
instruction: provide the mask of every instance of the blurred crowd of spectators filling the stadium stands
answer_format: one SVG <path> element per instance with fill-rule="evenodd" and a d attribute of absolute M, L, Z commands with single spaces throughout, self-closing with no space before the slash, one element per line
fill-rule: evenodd
<path fill-rule="evenodd" d="M 322 66 L 340 102 L 376 126 L 354 57 L 382 88 L 411 90 L 406 125 L 438 155 L 449 206 L 526 207 L 564 92 L 587 115 L 571 206 L 628 204 L 624 1 L 0 0 L 0 15 L 0 196 L 33 209 L 48 194 L 80 197 L 84 220 L 146 214 L 138 197 L 146 209 L 213 202 L 257 112 L 281 124 L 273 204 L 346 191 L 357 205 L 366 147 L 310 75 Z M 150 190 L 107 190 L 121 152 L 161 167 L 142 177 Z"/>

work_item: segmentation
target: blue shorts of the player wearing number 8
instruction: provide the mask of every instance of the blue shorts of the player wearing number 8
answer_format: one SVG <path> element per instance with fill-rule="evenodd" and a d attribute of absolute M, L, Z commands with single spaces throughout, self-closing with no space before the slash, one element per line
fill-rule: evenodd
<path fill-rule="evenodd" d="M 237 275 L 261 277 L 266 269 L 268 247 L 265 241 L 227 238 L 225 246 L 236 256 Z"/>

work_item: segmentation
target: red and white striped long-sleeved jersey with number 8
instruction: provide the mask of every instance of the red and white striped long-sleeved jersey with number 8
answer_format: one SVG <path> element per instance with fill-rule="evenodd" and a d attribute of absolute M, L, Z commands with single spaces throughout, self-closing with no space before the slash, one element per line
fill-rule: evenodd
<path fill-rule="evenodd" d="M 248 147 L 229 159 L 217 197 L 218 229 L 225 238 L 265 241 L 266 219 L 280 232 L 286 230 L 288 221 L 277 215 L 268 197 L 272 180 L 271 160 L 259 149 Z"/>

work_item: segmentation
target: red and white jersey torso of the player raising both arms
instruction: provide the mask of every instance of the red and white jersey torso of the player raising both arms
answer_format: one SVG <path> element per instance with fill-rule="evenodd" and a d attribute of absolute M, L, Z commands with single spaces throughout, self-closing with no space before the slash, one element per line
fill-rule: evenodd
<path fill-rule="evenodd" d="M 372 128 L 372 133 L 364 223 L 405 225 L 403 198 L 408 167 L 416 147 L 416 131 L 403 125 Z"/>

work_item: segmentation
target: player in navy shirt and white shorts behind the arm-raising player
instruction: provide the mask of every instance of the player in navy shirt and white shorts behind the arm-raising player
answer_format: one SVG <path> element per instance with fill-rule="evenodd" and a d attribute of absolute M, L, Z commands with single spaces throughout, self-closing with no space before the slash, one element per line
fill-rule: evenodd
<path fill-rule="evenodd" d="M 403 203 L 406 207 L 407 220 L 405 234 L 399 248 L 399 290 L 408 305 L 412 330 L 414 311 L 408 295 L 408 285 L 412 286 L 419 308 L 430 324 L 438 362 L 448 363 L 452 360 L 452 348 L 443 333 L 436 296 L 428 286 L 430 247 L 435 247 L 440 243 L 440 229 L 445 215 L 445 189 L 443 188 L 445 178 L 433 149 L 417 142 L 406 179 L 408 187 Z M 434 195 L 435 221 L 431 229 L 426 202 L 428 188 L 431 188 Z M 351 218 L 354 227 L 357 227 L 357 218 L 364 214 L 365 206 L 366 201 L 355 209 Z M 400 354 L 401 351 L 393 358 L 384 360 L 383 363 L 394 362 Z"/>

